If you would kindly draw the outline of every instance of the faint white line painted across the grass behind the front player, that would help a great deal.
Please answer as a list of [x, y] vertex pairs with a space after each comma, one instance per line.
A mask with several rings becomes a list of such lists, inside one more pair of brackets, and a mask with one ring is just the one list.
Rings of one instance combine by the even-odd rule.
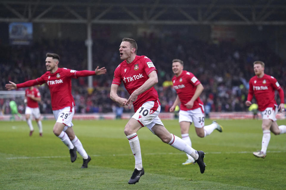
[[[267, 151], [267, 153], [285, 153], [286, 151]], [[242, 152], [205, 152], [206, 154], [251, 154], [252, 152], [249, 151], [242, 151]], [[161, 152], [161, 153], [145, 153], [143, 155], [178, 155], [178, 154], [185, 154], [184, 152]], [[113, 155], [91, 155], [93, 157], [104, 157], [104, 156], [130, 156], [130, 154], [113, 154]], [[42, 158], [66, 158], [69, 156], [37, 156], [37, 157], [11, 157], [6, 158], [7, 160], [13, 159], [42, 159]]]

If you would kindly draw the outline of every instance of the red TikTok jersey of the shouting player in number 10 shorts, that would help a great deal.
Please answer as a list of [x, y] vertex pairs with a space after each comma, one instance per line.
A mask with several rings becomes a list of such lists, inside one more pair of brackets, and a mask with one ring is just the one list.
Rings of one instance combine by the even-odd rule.
[[[133, 91], [144, 84], [149, 78], [148, 75], [150, 72], [154, 70], [157, 71], [148, 57], [136, 55], [131, 63], [128, 64], [126, 60], [124, 60], [119, 64], [114, 71], [112, 84], [121, 85], [121, 81], [123, 81], [126, 90], [131, 95]], [[159, 101], [159, 98], [155, 88], [151, 87], [142, 94], [139, 94], [137, 100], [133, 102], [134, 111], [136, 112], [145, 102], [153, 100]]]

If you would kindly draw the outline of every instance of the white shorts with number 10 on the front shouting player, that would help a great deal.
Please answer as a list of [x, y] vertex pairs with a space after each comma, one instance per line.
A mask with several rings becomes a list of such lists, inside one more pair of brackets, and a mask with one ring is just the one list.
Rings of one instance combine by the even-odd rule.
[[161, 106], [157, 100], [145, 102], [132, 116], [143, 127], [146, 126], [153, 134], [152, 127], [155, 124], [164, 126], [161, 119], [158, 117], [161, 110]]

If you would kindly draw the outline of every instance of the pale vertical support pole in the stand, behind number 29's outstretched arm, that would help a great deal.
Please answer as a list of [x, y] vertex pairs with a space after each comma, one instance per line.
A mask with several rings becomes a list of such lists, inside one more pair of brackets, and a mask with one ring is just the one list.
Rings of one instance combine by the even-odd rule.
[[[87, 70], [92, 70], [92, 38], [91, 38], [91, 14], [90, 7], [87, 7]], [[88, 88], [92, 89], [92, 76], [88, 77]]]

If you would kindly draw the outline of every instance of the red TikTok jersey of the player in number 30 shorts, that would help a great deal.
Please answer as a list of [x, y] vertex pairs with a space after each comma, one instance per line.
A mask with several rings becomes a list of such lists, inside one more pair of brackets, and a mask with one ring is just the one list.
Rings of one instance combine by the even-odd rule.
[[203, 106], [203, 102], [200, 100], [200, 97], [195, 100], [194, 105], [191, 109], [188, 109], [185, 106], [185, 104], [188, 103], [194, 96], [195, 91], [197, 89], [196, 86], [200, 84], [200, 81], [195, 77], [194, 74], [183, 70], [180, 76], [176, 77], [175, 75], [172, 78], [172, 82], [173, 87], [176, 90], [181, 101], [181, 110], [194, 110]]

